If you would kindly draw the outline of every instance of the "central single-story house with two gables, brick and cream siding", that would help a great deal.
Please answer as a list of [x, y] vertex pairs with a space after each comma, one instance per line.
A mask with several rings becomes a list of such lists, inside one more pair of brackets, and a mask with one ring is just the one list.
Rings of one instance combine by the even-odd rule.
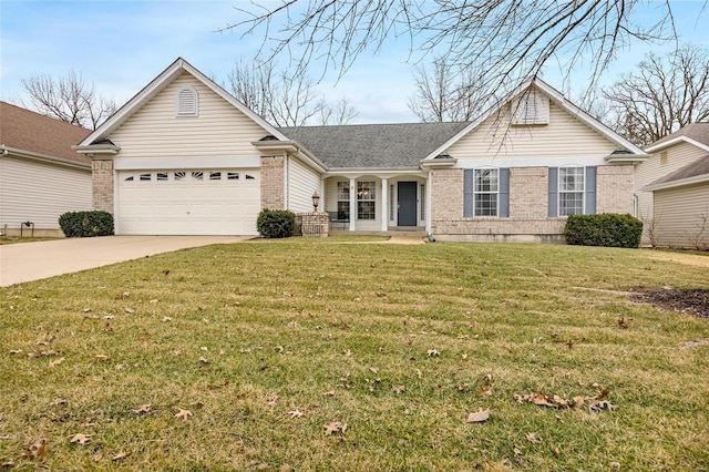
[[[508, 123], [512, 125], [508, 125]], [[631, 213], [647, 155], [546, 83], [472, 123], [276, 129], [183, 59], [79, 146], [117, 234], [256, 234], [263, 208], [346, 230], [563, 240], [566, 216]]]

